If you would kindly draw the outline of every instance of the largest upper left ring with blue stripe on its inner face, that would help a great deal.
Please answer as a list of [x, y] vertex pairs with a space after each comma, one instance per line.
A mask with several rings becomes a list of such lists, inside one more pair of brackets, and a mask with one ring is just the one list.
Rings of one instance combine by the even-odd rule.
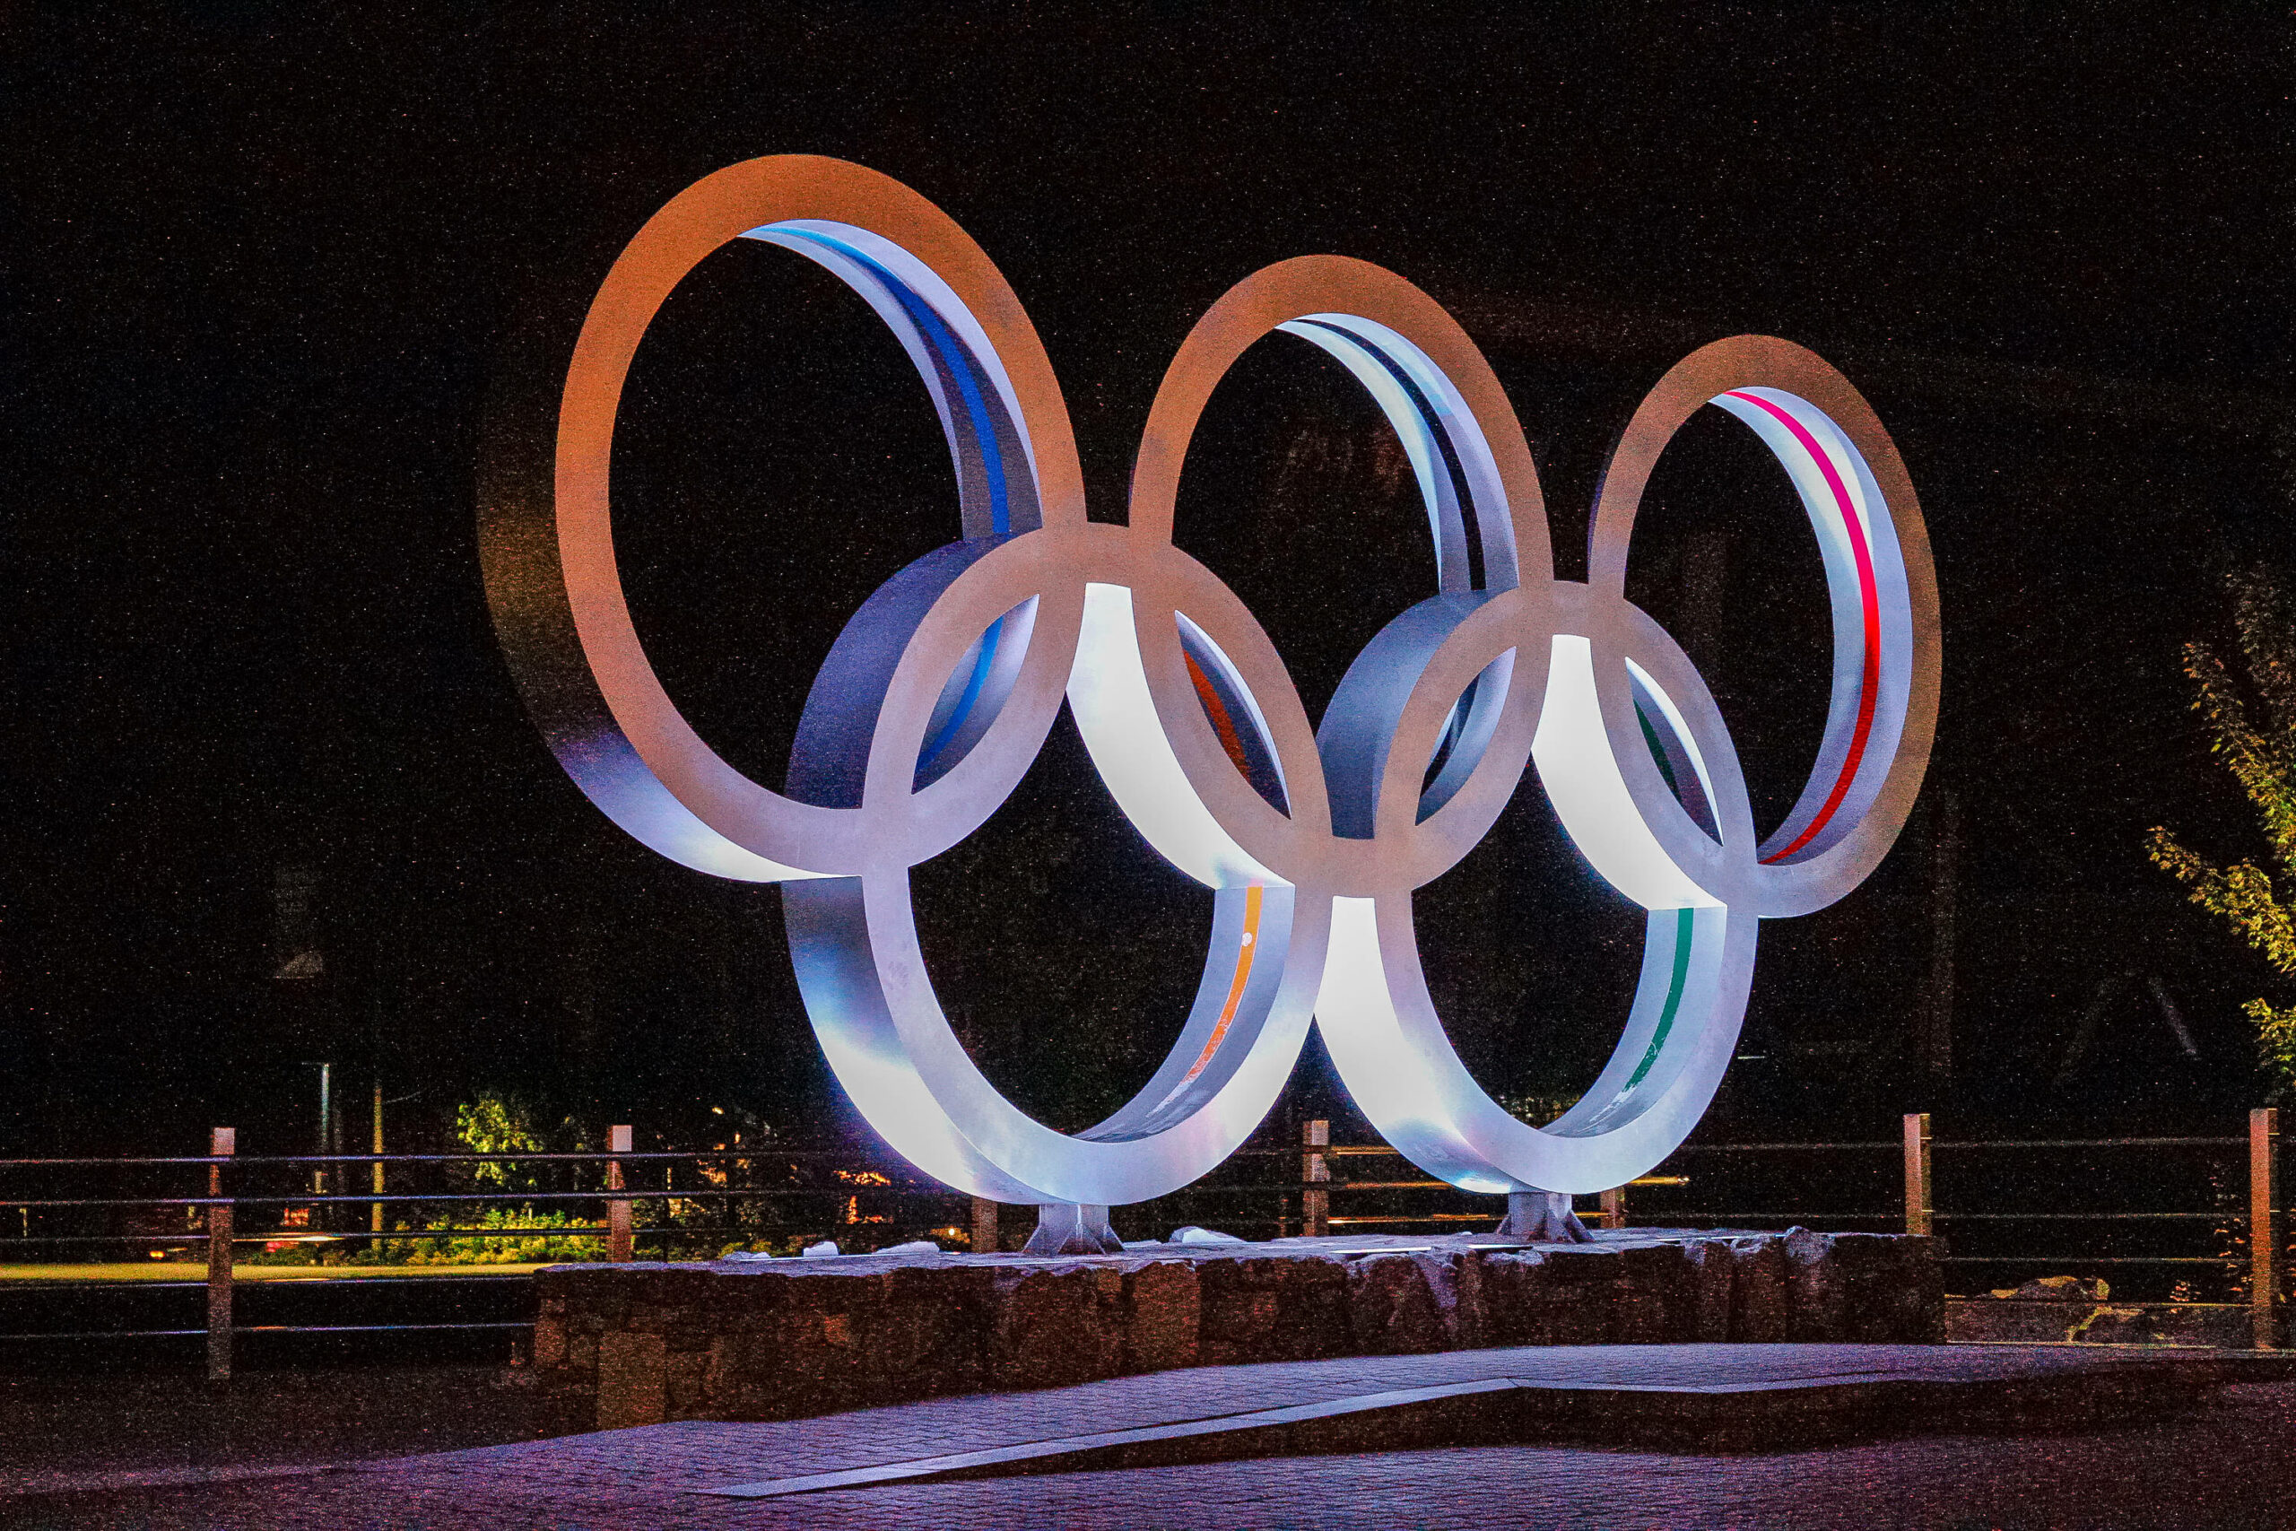
[[[680, 716], [638, 643], [615, 569], [608, 468], [638, 340], [670, 289], [730, 239], [781, 243], [852, 285], [909, 349], [957, 457], [964, 533], [1084, 526], [1061, 388], [987, 255], [907, 186], [843, 161], [781, 156], [709, 174], [654, 213], [613, 262], [558, 393], [546, 494], [533, 471], [482, 494], [487, 597], [521, 691], [567, 774], [615, 824], [689, 868], [748, 881], [923, 861], [971, 833], [1026, 771], [1058, 714], [1063, 643], [1008, 677], [990, 730], [916, 810], [861, 815], [799, 801], [726, 764]], [[1022, 746], [1026, 741], [1026, 746]], [[992, 767], [1001, 767], [994, 771]]]

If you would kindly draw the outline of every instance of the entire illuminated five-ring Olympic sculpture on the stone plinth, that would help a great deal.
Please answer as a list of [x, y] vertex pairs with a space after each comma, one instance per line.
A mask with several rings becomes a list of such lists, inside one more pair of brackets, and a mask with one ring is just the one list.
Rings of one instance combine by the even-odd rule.
[[[932, 393], [962, 505], [962, 535], [836, 638], [783, 792], [728, 767], [664, 693], [611, 530], [638, 340], [730, 239], [794, 250], [875, 308]], [[1366, 645], [1320, 725], [1242, 601], [1173, 546], [1205, 399], [1272, 331], [1334, 356], [1380, 404], [1435, 542], [1437, 592]], [[1626, 1184], [1722, 1081], [1756, 920], [1855, 888], [1929, 762], [1938, 592], [1913, 484], [1857, 390], [1784, 340], [1722, 340], [1658, 381], [1603, 475], [1587, 583], [1554, 578], [1531, 452], [1481, 351], [1357, 259], [1267, 266], [1203, 314], [1155, 397], [1125, 526], [1086, 521], [1058, 383], [987, 255], [859, 165], [771, 156], [696, 181], [613, 262], [560, 363], [553, 450], [510, 450], [482, 480], [489, 601], [528, 707], [625, 831], [703, 872], [788, 884], [797, 976], [838, 1081], [900, 1155], [974, 1196], [1097, 1212], [1104, 1230], [1109, 1205], [1173, 1191], [1242, 1143], [1311, 1019], [1364, 1113], [1430, 1175], [1550, 1205]], [[1706, 404], [1784, 466], [1832, 601], [1823, 746], [1768, 838], [1713, 695], [1626, 599], [1642, 489]], [[1125, 815], [1215, 907], [1180, 1040], [1075, 1136], [1024, 1116], [964, 1054], [909, 904], [909, 868], [994, 813], [1063, 702]], [[1412, 927], [1412, 891], [1481, 840], [1525, 764], [1587, 861], [1649, 911], [1616, 1051], [1548, 1127], [1460, 1065]]]

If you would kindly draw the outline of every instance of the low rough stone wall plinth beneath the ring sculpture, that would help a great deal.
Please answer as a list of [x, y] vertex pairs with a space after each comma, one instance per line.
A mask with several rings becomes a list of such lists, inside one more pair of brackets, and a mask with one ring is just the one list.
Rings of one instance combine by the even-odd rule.
[[1176, 1366], [1481, 1345], [1945, 1338], [1936, 1244], [1906, 1235], [1334, 1244], [569, 1265], [537, 1276], [533, 1366], [569, 1419], [595, 1400], [595, 1425], [611, 1430], [797, 1419]]

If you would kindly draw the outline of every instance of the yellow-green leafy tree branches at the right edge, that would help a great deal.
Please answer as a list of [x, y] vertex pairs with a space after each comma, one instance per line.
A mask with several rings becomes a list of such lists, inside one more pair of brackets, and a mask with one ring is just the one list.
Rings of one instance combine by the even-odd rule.
[[[2280, 875], [2296, 877], [2296, 622], [2271, 574], [2250, 569], [2227, 583], [2239, 668], [2220, 647], [2188, 643], [2183, 673], [2193, 677], [2193, 709], [2209, 730], [2209, 751], [2255, 806]], [[2296, 978], [2296, 900], [2273, 888], [2271, 870], [2255, 858], [2216, 865], [2163, 826], [2151, 831], [2147, 849], [2195, 904], [2232, 925], [2282, 978]], [[2296, 1088], [2296, 1005], [2252, 998], [2243, 1010], [2257, 1026], [2273, 1095], [2289, 1093]]]

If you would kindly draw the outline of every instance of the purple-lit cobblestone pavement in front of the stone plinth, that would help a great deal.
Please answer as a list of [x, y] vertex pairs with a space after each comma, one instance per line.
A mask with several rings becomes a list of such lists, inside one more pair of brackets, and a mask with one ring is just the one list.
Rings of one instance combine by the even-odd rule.
[[[1699, 1357], [1607, 1359], [1612, 1382]], [[1876, 1370], [1880, 1347], [1729, 1347], [1704, 1375]], [[1747, 1354], [1754, 1352], [1754, 1354]], [[1867, 1354], [1855, 1354], [1867, 1352]], [[2027, 1352], [2030, 1354], [2030, 1352]], [[1536, 1357], [1534, 1357], [1536, 1359]], [[1995, 1368], [2002, 1352], [1938, 1363]], [[1903, 1357], [1899, 1361], [1903, 1366]], [[1295, 1368], [1194, 1373], [1196, 1416], [1332, 1398], [1366, 1386], [1522, 1375], [1527, 1352], [1451, 1352]], [[806, 1526], [2000, 1526], [2209, 1531], [2296, 1529], [2296, 1382], [2225, 1389], [2197, 1416], [2039, 1437], [1929, 1437], [1761, 1455], [1557, 1446], [1396, 1451], [1199, 1467], [838, 1490], [735, 1501], [698, 1487], [820, 1471], [955, 1446], [1042, 1439], [1176, 1419], [1178, 1375], [1084, 1389], [948, 1398], [776, 1425], [677, 1423], [365, 1469], [181, 1490], [0, 1499], [9, 1531], [634, 1531]], [[1164, 1382], [1162, 1396], [1155, 1386]]]

